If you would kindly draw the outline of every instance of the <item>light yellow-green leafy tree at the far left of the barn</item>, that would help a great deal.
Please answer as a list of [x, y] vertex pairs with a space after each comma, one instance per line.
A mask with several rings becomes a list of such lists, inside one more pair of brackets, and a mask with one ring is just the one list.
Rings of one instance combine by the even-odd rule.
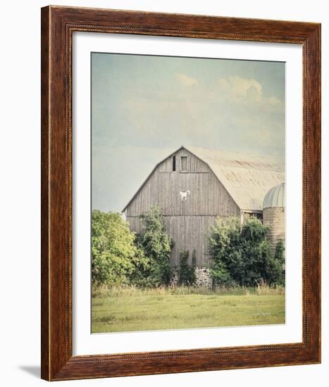
[[120, 214], [92, 211], [92, 282], [123, 285], [138, 283], [149, 269], [149, 259], [135, 243]]

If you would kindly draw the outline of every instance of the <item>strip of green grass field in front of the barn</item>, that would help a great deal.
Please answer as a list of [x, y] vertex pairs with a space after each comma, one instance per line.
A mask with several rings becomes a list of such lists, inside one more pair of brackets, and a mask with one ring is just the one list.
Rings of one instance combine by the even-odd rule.
[[92, 332], [285, 323], [284, 288], [98, 288]]

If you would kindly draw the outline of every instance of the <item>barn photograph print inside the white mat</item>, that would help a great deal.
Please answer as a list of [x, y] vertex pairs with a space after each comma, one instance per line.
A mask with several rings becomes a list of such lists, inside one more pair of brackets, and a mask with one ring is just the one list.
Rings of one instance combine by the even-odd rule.
[[92, 333], [285, 324], [285, 63], [91, 63]]

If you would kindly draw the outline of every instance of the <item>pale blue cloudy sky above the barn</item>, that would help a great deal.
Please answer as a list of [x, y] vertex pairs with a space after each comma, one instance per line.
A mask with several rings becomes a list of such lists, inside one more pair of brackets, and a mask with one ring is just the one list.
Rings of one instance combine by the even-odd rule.
[[285, 63], [92, 53], [92, 208], [181, 145], [284, 158]]

